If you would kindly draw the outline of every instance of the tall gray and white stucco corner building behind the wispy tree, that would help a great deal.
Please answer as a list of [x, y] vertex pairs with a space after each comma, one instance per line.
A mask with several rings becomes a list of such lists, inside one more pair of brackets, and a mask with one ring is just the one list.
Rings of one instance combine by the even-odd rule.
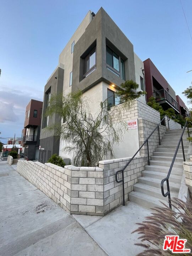
[[[70, 158], [62, 152], [65, 143], [54, 130], [46, 129], [51, 123], [62, 122], [57, 116], [45, 116], [51, 94], [82, 90], [95, 114], [106, 98], [110, 97], [111, 106], [119, 103], [115, 91], [125, 80], [136, 81], [138, 91], [145, 90], [142, 60], [103, 8], [96, 15], [89, 11], [59, 55], [59, 64], [45, 85], [40, 132], [40, 146], [44, 150], [40, 159], [46, 162], [55, 153]], [[139, 100], [146, 103], [146, 96]]]

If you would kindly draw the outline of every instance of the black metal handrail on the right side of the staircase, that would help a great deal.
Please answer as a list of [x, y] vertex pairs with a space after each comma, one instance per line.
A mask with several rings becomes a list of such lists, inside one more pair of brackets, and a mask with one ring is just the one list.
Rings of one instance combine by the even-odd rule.
[[[188, 116], [187, 118], [190, 116], [190, 112], [188, 113]], [[166, 178], [164, 178], [162, 181], [161, 181], [161, 193], [164, 197], [167, 197], [168, 196], [168, 201], [169, 201], [169, 208], [172, 209], [171, 207], [171, 195], [170, 195], [170, 188], [169, 188], [169, 177], [170, 177], [170, 174], [171, 174], [171, 170], [172, 170], [172, 167], [174, 165], [174, 162], [175, 162], [175, 158], [176, 158], [176, 155], [177, 155], [177, 152], [179, 150], [179, 146], [180, 146], [180, 143], [181, 143], [181, 146], [182, 146], [182, 153], [183, 153], [183, 161], [185, 162], [185, 152], [184, 152], [184, 147], [183, 147], [183, 133], [185, 132], [185, 128], [187, 126], [187, 132], [188, 132], [188, 137], [190, 137], [190, 132], [189, 132], [189, 127], [188, 127], [188, 121], [186, 120], [185, 122], [185, 126], [183, 127], [183, 131], [181, 133], [181, 137], [179, 139], [179, 142], [177, 144], [177, 148], [175, 150], [175, 154], [174, 154], [174, 157], [172, 159], [172, 162], [171, 162], [171, 165], [170, 165], [170, 168], [169, 168], [169, 171], [168, 171], [168, 175]], [[164, 193], [164, 182], [166, 181], [167, 183], [167, 192]]]

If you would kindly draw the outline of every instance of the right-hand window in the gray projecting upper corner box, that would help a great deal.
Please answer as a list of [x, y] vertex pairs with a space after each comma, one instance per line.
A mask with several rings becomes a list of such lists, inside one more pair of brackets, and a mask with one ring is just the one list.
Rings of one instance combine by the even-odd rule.
[[[121, 70], [119, 63], [121, 62]], [[113, 50], [106, 46], [106, 63], [107, 69], [112, 71], [115, 75], [121, 76], [125, 80], [125, 62]]]

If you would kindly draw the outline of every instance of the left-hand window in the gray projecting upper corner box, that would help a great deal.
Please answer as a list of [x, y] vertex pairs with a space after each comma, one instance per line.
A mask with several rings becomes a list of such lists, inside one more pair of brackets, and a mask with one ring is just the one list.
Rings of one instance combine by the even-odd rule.
[[83, 60], [83, 77], [85, 78], [96, 69], [96, 48]]

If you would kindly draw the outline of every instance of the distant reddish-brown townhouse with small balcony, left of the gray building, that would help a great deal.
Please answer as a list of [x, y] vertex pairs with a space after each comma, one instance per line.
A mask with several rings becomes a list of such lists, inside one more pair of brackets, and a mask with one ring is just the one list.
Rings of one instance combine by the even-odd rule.
[[31, 100], [25, 113], [24, 129], [22, 130], [22, 153], [28, 160], [39, 158], [39, 135], [43, 102]]

